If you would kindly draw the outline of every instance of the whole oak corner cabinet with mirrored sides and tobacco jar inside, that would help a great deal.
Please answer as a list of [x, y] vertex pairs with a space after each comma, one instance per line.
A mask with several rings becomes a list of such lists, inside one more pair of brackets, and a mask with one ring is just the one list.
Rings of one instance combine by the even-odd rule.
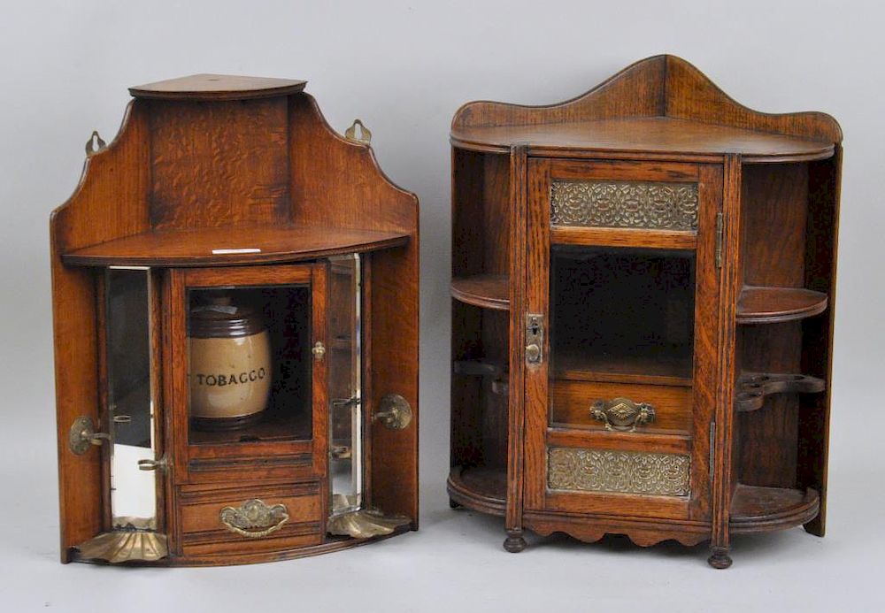
[[50, 222], [62, 562], [418, 528], [418, 199], [303, 90], [151, 83], [90, 137]]

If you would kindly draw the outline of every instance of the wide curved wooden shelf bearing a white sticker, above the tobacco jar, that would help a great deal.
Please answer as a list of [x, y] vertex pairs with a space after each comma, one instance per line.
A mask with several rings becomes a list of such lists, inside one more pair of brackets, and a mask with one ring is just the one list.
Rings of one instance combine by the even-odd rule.
[[404, 245], [396, 232], [310, 226], [212, 227], [146, 232], [62, 254], [84, 266], [205, 266], [293, 262]]

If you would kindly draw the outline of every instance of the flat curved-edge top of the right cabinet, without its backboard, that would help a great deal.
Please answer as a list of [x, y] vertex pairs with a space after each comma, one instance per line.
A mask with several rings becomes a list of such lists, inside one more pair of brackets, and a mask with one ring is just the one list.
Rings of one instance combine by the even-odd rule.
[[746, 163], [825, 159], [834, 150], [833, 142], [670, 117], [454, 126], [451, 142], [463, 149], [502, 152], [514, 142], [526, 142], [528, 155], [549, 157], [657, 153], [704, 159], [740, 153]]

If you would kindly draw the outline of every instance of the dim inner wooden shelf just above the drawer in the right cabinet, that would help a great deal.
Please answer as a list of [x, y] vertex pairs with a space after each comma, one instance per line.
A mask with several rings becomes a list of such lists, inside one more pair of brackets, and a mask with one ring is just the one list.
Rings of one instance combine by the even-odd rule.
[[691, 386], [689, 349], [604, 348], [591, 344], [580, 350], [554, 352], [551, 364], [556, 379]]

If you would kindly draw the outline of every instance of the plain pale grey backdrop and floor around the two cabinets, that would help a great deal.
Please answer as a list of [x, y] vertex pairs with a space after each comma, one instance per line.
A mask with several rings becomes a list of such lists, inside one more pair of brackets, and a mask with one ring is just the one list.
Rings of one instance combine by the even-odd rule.
[[[658, 610], [881, 606], [879, 249], [885, 223], [883, 11], [876, 2], [31, 2], [0, 11], [0, 604], [5, 610]], [[828, 535], [705, 548], [532, 540], [446, 505], [450, 149], [461, 103], [554, 103], [669, 52], [762, 111], [827, 111], [845, 134]], [[48, 219], [127, 86], [189, 73], [309, 80], [330, 123], [359, 117], [381, 167], [421, 201], [422, 530], [371, 548], [232, 569], [58, 564]], [[873, 594], [875, 592], [875, 594]], [[546, 603], [542, 605], [541, 603]], [[10, 608], [12, 605], [12, 608]]]

